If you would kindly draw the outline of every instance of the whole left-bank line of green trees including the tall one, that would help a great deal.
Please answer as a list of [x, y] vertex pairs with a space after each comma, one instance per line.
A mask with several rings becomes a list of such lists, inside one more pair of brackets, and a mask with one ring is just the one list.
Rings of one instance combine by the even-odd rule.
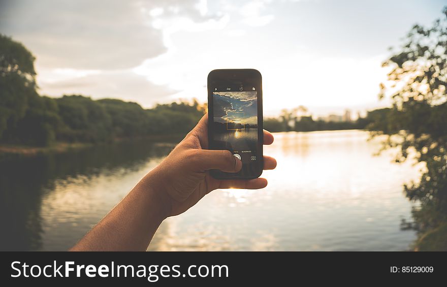
[[121, 100], [82, 95], [42, 97], [36, 90], [35, 57], [0, 34], [0, 142], [49, 146], [56, 141], [100, 143], [117, 138], [180, 135], [203, 116], [197, 101], [143, 109]]

